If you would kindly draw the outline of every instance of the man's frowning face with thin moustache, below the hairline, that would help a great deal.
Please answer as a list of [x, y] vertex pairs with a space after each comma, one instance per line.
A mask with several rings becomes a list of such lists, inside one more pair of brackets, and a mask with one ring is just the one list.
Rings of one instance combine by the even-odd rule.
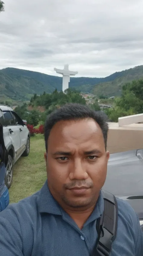
[[75, 208], [95, 204], [106, 179], [109, 152], [93, 119], [56, 123], [45, 159], [48, 186], [60, 205]]

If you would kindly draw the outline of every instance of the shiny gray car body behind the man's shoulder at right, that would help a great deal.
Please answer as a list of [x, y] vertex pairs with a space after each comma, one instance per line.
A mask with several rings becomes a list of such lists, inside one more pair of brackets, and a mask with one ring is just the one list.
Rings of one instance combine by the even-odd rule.
[[111, 154], [103, 189], [126, 200], [143, 219], [143, 149]]

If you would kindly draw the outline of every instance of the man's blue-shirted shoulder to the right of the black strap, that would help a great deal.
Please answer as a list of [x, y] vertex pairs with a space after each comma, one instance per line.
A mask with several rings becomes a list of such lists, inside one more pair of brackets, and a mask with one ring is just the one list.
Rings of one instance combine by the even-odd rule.
[[131, 205], [116, 198], [118, 205], [118, 225], [116, 239], [112, 245], [112, 254], [117, 255], [143, 255], [143, 237], [138, 216]]

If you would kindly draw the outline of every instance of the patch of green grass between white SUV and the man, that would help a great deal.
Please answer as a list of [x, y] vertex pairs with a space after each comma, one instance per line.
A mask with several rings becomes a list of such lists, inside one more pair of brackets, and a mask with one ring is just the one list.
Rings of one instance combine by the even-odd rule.
[[13, 182], [9, 189], [10, 203], [17, 203], [43, 186], [46, 181], [44, 152], [43, 135], [31, 137], [29, 156], [21, 157], [14, 165]]

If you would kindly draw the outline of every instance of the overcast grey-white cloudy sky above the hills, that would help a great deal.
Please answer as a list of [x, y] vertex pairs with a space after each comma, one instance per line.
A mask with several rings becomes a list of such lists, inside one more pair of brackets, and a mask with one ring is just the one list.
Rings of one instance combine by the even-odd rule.
[[3, 0], [0, 69], [106, 77], [143, 64], [142, 0]]

